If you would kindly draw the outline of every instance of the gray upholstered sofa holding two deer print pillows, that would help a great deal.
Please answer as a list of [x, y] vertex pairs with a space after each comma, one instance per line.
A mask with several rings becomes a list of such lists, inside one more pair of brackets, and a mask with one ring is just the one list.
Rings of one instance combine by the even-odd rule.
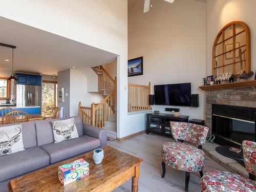
[[22, 123], [25, 151], [0, 156], [0, 191], [8, 191], [7, 184], [15, 177], [106, 146], [105, 129], [74, 119], [79, 137], [59, 143], [54, 143], [52, 119]]

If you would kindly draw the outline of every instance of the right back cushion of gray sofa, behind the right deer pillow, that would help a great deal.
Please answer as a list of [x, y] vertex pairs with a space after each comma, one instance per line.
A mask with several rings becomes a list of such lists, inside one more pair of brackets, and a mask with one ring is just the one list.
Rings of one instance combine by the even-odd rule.
[[[52, 124], [51, 121], [55, 120], [64, 120], [68, 118], [59, 118], [59, 119], [47, 119], [42, 121], [35, 121], [36, 129], [36, 139], [37, 146], [49, 144], [54, 142]], [[82, 120], [80, 117], [74, 117], [76, 123], [76, 129], [78, 136], [83, 135]]]

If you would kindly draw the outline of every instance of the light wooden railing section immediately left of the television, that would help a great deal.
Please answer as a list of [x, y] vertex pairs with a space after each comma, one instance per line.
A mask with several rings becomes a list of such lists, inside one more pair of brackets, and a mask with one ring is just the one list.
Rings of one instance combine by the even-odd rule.
[[151, 82], [148, 86], [128, 83], [128, 112], [151, 110], [150, 93]]

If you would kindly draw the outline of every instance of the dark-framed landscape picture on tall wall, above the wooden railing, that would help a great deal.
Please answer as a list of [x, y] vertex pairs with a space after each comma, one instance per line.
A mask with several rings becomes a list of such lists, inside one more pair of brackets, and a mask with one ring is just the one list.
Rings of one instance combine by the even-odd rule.
[[128, 60], [128, 77], [143, 75], [143, 57]]

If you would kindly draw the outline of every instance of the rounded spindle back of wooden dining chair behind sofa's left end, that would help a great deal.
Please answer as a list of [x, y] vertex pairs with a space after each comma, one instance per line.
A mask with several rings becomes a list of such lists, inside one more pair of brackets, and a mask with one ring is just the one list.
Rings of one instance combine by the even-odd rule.
[[2, 124], [28, 122], [29, 115], [24, 111], [12, 111], [4, 115]]

